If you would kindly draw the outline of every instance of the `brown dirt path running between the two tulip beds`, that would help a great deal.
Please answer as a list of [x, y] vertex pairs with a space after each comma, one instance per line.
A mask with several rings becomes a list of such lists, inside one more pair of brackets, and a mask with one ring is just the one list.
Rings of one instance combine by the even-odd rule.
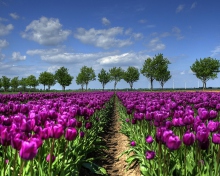
[[[111, 118], [110, 123], [105, 129], [103, 134], [103, 141], [107, 150], [102, 151], [102, 154], [97, 151], [97, 156], [104, 157], [102, 160], [97, 161], [96, 163], [104, 167], [107, 170], [108, 176], [140, 176], [140, 170], [138, 165], [132, 166], [129, 170], [126, 171], [126, 154], [119, 156], [128, 149], [129, 141], [128, 138], [120, 133], [120, 120], [119, 113], [116, 109], [116, 103], [114, 105], [114, 112]], [[118, 159], [119, 158], [119, 159]], [[95, 176], [94, 174], [83, 171], [80, 176]]]

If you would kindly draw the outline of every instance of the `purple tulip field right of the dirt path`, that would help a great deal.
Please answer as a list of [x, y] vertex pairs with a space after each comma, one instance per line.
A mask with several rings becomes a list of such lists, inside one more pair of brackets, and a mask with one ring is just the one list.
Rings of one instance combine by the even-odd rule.
[[129, 165], [143, 175], [220, 175], [220, 93], [117, 92], [130, 139]]

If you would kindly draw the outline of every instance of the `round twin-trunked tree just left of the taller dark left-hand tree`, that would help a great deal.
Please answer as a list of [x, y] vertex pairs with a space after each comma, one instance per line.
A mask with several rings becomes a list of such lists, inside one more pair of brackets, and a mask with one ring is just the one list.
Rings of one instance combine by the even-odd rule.
[[53, 86], [56, 84], [54, 75], [50, 72], [42, 72], [39, 75], [38, 81], [40, 84], [43, 84], [44, 90], [45, 90], [45, 85], [48, 86], [48, 90], [50, 90], [50, 86]]

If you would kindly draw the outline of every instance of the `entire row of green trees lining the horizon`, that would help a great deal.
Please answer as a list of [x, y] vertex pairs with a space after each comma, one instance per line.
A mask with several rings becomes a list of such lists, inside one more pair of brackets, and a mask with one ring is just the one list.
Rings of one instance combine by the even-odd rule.
[[[115, 90], [117, 83], [123, 79], [132, 89], [133, 84], [139, 80], [141, 73], [150, 80], [151, 90], [153, 90], [154, 80], [158, 81], [163, 89], [164, 84], [171, 78], [170, 71], [168, 70], [169, 64], [170, 61], [164, 58], [163, 54], [158, 54], [153, 58], [147, 58], [140, 72], [136, 67], [132, 66], [129, 66], [127, 70], [123, 70], [121, 67], [113, 67], [109, 69], [109, 71], [101, 69], [100, 73], [98, 73], [98, 81], [101, 83], [103, 90], [107, 83], [113, 81]], [[196, 59], [195, 63], [193, 63], [190, 68], [196, 77], [203, 82], [203, 88], [206, 88], [206, 82], [209, 79], [217, 78], [219, 67], [219, 60], [208, 57], [200, 60]], [[46, 71], [40, 73], [38, 79], [34, 75], [30, 75], [27, 78], [21, 78], [21, 80], [18, 79], [18, 76], [12, 79], [2, 76], [2, 78], [0, 78], [0, 88], [3, 87], [4, 91], [7, 91], [11, 87], [13, 91], [16, 91], [17, 88], [21, 86], [25, 91], [27, 86], [35, 89], [36, 86], [42, 84], [44, 90], [45, 86], [48, 86], [48, 90], [50, 90], [51, 86], [59, 83], [62, 86], [62, 90], [65, 91], [66, 86], [69, 86], [73, 79], [74, 77], [68, 73], [68, 69], [61, 67], [55, 74]], [[83, 66], [76, 76], [76, 84], [80, 85], [82, 90], [84, 87], [87, 90], [89, 82], [94, 80], [96, 80], [96, 75], [92, 67]]]

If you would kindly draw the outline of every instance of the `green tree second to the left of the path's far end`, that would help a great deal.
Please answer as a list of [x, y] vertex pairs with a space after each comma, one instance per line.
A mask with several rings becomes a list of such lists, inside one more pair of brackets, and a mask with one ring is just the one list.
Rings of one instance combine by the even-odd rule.
[[83, 86], [86, 85], [86, 90], [87, 90], [89, 82], [94, 81], [94, 80], [96, 80], [96, 75], [95, 75], [95, 71], [93, 70], [93, 68], [83, 66], [80, 69], [80, 73], [77, 76], [76, 83], [78, 85], [80, 84], [82, 86], [82, 89], [83, 89]]

